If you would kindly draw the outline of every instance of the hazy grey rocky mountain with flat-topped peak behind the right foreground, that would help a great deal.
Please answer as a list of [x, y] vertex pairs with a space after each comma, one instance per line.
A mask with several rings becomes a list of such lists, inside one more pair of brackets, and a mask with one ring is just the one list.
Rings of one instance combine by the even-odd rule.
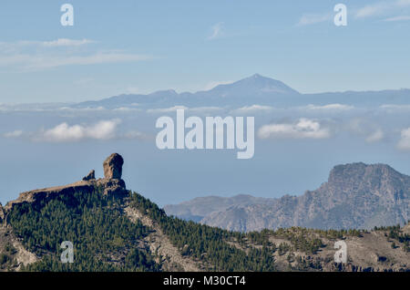
[[410, 219], [410, 177], [384, 164], [338, 165], [319, 189], [301, 196], [210, 196], [167, 205], [165, 211], [241, 232], [290, 226], [369, 229]]

